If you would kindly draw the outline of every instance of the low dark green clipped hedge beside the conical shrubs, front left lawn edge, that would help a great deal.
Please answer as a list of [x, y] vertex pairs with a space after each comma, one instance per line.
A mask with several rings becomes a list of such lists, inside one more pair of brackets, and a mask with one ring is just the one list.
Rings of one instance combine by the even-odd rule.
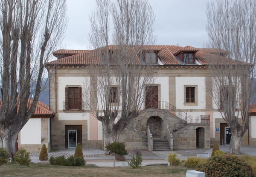
[[64, 156], [50, 157], [50, 164], [53, 166], [84, 166], [84, 157], [70, 156], [67, 159]]

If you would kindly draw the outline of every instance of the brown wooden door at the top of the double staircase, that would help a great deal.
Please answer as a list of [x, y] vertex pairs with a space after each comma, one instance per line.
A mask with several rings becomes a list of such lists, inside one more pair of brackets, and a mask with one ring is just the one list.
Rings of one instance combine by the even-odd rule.
[[145, 108], [158, 108], [158, 86], [146, 86]]

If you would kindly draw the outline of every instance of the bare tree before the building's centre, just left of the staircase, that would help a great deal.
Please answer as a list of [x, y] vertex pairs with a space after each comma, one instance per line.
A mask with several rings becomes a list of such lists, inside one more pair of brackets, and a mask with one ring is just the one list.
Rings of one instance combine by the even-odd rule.
[[[145, 84], [154, 80], [142, 59], [144, 51], [152, 56], [155, 52], [144, 46], [154, 43], [154, 13], [147, 0], [97, 0], [96, 3], [97, 11], [90, 17], [90, 42], [99, 61], [90, 67], [90, 82], [84, 86], [90, 87], [90, 99], [85, 96], [84, 100], [102, 122], [109, 142], [115, 142], [138, 116], [143, 108]], [[111, 41], [114, 45], [109, 45]]]

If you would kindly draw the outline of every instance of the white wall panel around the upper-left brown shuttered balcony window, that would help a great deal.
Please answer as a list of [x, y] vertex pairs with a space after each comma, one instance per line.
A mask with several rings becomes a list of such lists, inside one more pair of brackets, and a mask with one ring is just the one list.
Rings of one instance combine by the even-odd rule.
[[[81, 86], [82, 95], [90, 95], [89, 90], [83, 88], [84, 82], [90, 82], [90, 77], [58, 77], [58, 109], [63, 110], [63, 102], [65, 102], [66, 86]], [[89, 100], [89, 99], [88, 99]]]

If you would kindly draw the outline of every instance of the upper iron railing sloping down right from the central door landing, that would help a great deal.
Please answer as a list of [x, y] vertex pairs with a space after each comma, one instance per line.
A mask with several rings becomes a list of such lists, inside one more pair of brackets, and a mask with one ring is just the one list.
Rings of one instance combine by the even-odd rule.
[[167, 103], [165, 100], [158, 102], [158, 109], [169, 111], [171, 114], [179, 117], [181, 120], [186, 119], [187, 113]]

